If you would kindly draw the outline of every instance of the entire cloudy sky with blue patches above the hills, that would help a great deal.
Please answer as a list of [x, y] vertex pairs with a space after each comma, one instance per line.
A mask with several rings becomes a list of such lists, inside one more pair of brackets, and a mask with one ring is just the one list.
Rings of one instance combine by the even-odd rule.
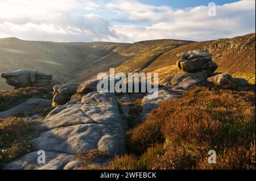
[[[213, 7], [209, 3], [214, 2]], [[212, 14], [213, 15], [213, 14]], [[1, 0], [0, 38], [135, 42], [255, 32], [255, 0]]]

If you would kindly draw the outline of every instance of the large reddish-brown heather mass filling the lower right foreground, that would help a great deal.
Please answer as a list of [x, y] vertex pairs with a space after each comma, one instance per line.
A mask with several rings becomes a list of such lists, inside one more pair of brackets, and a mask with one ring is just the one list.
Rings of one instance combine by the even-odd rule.
[[[164, 101], [127, 136], [127, 148], [136, 155], [164, 143], [152, 169], [250, 169], [255, 162], [255, 146], [250, 146], [255, 142], [255, 92], [193, 87], [178, 100]], [[219, 163], [206, 166], [212, 149]]]

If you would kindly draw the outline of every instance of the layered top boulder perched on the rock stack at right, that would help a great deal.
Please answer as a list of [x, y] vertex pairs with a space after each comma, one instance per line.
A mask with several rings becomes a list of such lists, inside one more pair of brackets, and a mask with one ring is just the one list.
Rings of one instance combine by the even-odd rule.
[[208, 73], [213, 73], [218, 68], [218, 65], [212, 61], [212, 55], [205, 50], [192, 50], [177, 54], [177, 57], [181, 57], [176, 62], [177, 67], [185, 72], [207, 70]]

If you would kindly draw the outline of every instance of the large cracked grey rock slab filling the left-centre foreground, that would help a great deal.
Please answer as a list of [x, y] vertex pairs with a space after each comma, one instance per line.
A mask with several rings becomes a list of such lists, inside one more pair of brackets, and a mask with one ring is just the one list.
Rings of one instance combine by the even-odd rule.
[[123, 121], [113, 93], [90, 92], [81, 102], [57, 106], [38, 130], [39, 137], [31, 143], [35, 150], [49, 154], [47, 165], [36, 164], [33, 152], [9, 163], [5, 169], [76, 169], [79, 161], [75, 154], [79, 151], [97, 149], [106, 153], [101, 162], [125, 153]]

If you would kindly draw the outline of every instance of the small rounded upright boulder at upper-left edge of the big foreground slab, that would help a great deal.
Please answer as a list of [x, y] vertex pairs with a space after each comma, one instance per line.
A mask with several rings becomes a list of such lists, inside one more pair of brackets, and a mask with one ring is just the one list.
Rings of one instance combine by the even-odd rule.
[[65, 103], [69, 102], [71, 96], [76, 92], [78, 87], [79, 85], [76, 83], [67, 83], [61, 86], [54, 86], [52, 107], [64, 105]]

